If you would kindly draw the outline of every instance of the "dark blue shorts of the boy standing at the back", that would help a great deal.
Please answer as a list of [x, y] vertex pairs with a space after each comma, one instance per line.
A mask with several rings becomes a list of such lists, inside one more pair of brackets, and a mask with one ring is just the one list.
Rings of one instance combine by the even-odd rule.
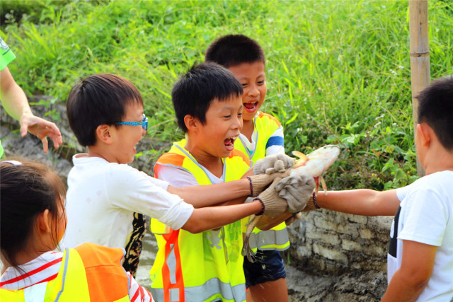
[[255, 262], [243, 258], [243, 272], [246, 275], [246, 287], [286, 278], [285, 264], [278, 250], [258, 250]]

